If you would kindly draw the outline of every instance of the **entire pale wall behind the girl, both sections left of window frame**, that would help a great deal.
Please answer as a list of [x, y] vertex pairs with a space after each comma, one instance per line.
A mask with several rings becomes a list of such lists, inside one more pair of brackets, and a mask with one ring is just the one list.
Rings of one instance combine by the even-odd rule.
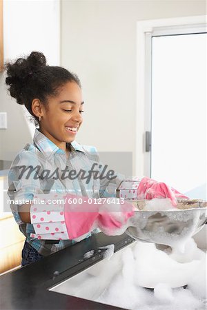
[[[206, 14], [204, 0], [62, 0], [60, 25], [59, 0], [4, 0], [5, 61], [40, 50], [48, 63], [58, 65], [61, 48], [61, 65], [79, 74], [86, 101], [77, 141], [135, 156], [136, 23], [199, 14]], [[32, 141], [22, 111], [6, 94], [0, 73], [0, 112], [8, 112], [8, 129], [0, 130], [0, 159], [12, 159], [10, 152]]]

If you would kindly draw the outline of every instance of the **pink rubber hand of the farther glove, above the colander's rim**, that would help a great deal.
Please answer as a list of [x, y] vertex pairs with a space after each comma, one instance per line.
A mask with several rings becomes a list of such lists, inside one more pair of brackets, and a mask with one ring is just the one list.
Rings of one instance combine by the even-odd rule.
[[176, 189], [169, 187], [163, 182], [157, 182], [152, 178], [144, 177], [137, 188], [138, 199], [152, 199], [152, 198], [170, 198], [172, 205], [177, 206], [177, 198], [186, 198], [187, 196], [181, 194]]

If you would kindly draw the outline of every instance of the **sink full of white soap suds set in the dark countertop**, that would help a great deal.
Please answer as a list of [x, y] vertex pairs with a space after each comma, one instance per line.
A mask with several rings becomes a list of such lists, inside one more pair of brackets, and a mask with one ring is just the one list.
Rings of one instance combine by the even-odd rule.
[[57, 291], [132, 310], [206, 309], [206, 254], [192, 238], [184, 254], [167, 254], [152, 243], [136, 241]]

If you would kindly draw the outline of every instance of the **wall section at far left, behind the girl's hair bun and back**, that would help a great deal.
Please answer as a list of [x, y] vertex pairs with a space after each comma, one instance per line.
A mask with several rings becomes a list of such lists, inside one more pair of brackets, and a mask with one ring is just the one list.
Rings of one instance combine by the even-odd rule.
[[[50, 65], [60, 62], [59, 0], [3, 1], [4, 61], [43, 52]], [[0, 159], [12, 160], [32, 142], [34, 126], [26, 121], [23, 107], [6, 92], [5, 74], [0, 74], [0, 112], [8, 113], [8, 129], [0, 129]]]

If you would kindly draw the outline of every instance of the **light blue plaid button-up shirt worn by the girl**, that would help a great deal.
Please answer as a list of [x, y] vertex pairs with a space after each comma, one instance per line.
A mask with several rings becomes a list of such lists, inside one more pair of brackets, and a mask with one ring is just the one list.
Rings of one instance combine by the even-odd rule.
[[[21, 200], [32, 200], [35, 194], [48, 194], [49, 192], [57, 193], [70, 193], [78, 196], [88, 196], [90, 198], [110, 197], [116, 196], [116, 189], [124, 180], [124, 176], [117, 175], [114, 180], [97, 180], [90, 179], [87, 183], [86, 180], [81, 178], [35, 178], [37, 176], [37, 170], [32, 171], [29, 178], [26, 178], [26, 174], [19, 178], [21, 173], [21, 166], [26, 167], [39, 167], [38, 174], [48, 171], [54, 172], [55, 169], [64, 169], [66, 165], [70, 169], [75, 169], [77, 172], [80, 169], [88, 171], [92, 167], [92, 163], [99, 163], [99, 155], [97, 149], [88, 145], [80, 145], [76, 141], [72, 143], [66, 143], [67, 147], [70, 147], [70, 157], [67, 158], [66, 152], [60, 149], [50, 141], [44, 134], [42, 134], [38, 128], [34, 132], [34, 138], [32, 144], [27, 144], [14, 158], [10, 171], [8, 174], [8, 196], [10, 200], [16, 200], [18, 203], [10, 203], [14, 219], [19, 225], [19, 229], [26, 236], [27, 242], [37, 249], [39, 254], [48, 256], [56, 251], [68, 247], [76, 243], [76, 240], [39, 240], [36, 238], [30, 238], [30, 233], [34, 233], [33, 225], [30, 223], [23, 223], [19, 216], [19, 207]], [[99, 229], [95, 229], [88, 233], [85, 238], [88, 238], [92, 234], [99, 232]]]

